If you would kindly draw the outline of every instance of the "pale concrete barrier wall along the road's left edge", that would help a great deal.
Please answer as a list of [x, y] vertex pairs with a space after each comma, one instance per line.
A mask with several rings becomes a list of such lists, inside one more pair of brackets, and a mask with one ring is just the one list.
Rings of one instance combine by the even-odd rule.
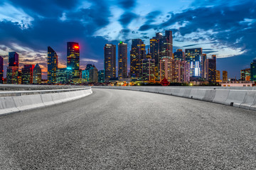
[[[30, 92], [31, 91], [28, 91], [28, 93]], [[38, 91], [38, 93], [39, 92], [40, 91]], [[52, 91], [48, 94], [0, 97], [0, 115], [52, 106], [58, 103], [73, 101], [90, 94], [92, 94], [92, 89], [89, 87], [79, 90], [65, 89], [64, 92], [56, 91], [55, 93]]]

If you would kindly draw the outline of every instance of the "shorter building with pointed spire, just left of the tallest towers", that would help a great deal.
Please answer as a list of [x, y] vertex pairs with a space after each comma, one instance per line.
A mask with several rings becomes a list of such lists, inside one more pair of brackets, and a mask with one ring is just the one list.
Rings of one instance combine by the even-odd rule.
[[151, 55], [146, 55], [146, 58], [142, 60], [142, 80], [154, 82], [155, 81], [155, 61], [151, 59]]

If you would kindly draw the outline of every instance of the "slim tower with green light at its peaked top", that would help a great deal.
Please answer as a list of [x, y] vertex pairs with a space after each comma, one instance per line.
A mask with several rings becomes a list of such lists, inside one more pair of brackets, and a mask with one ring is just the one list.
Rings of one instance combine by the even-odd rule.
[[118, 44], [118, 79], [127, 79], [127, 44]]

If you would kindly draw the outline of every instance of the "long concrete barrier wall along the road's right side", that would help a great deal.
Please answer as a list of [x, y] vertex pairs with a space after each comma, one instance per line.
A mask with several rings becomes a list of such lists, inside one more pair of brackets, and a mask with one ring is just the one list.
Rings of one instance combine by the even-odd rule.
[[184, 98], [193, 98], [201, 101], [246, 108], [256, 111], [255, 88], [221, 88], [221, 87], [169, 87], [169, 86], [92, 86], [95, 89], [122, 89], [145, 91], [156, 94], [166, 94]]

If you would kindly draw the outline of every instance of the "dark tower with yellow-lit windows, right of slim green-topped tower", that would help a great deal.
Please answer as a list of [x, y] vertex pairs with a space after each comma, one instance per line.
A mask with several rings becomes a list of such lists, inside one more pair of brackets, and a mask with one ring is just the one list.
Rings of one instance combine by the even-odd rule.
[[142, 79], [142, 60], [146, 58], [146, 49], [141, 39], [132, 40], [130, 51], [130, 77], [132, 81]]

